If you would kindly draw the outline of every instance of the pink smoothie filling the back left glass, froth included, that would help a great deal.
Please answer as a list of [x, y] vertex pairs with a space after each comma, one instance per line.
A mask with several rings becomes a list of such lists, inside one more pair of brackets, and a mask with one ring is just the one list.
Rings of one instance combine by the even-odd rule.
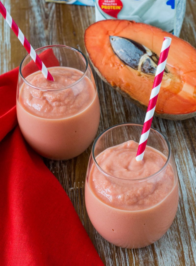
[[[16, 101], [17, 117], [24, 138], [44, 157], [65, 160], [78, 156], [94, 139], [100, 119], [95, 84], [88, 77], [71, 88], [82, 72], [74, 68], [48, 68], [54, 81], [40, 72], [26, 80]], [[58, 90], [57, 90], [58, 89]]]

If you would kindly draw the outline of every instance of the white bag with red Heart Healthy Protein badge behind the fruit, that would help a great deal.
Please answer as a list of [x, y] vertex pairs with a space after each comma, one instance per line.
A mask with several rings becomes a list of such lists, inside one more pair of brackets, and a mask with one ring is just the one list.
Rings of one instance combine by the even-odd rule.
[[179, 36], [186, 0], [95, 0], [96, 21], [135, 20]]

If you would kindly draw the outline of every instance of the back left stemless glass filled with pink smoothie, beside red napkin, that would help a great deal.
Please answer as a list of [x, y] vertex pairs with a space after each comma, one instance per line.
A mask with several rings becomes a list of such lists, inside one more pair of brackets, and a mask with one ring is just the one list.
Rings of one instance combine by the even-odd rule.
[[93, 141], [100, 119], [99, 98], [85, 55], [65, 45], [36, 50], [54, 81], [44, 78], [27, 55], [20, 64], [17, 118], [40, 155], [54, 160], [78, 156]]

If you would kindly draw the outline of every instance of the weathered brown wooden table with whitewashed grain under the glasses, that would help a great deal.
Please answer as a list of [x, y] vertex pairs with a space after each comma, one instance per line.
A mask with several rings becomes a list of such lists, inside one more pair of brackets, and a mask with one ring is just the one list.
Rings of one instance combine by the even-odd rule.
[[[65, 44], [85, 53], [84, 30], [95, 22], [94, 7], [45, 3], [44, 0], [3, 0], [33, 48]], [[187, 0], [186, 16], [180, 37], [196, 46], [196, 2]], [[18, 66], [25, 49], [0, 17], [0, 73]], [[182, 51], [186, 52], [186, 51]], [[106, 85], [92, 69], [97, 84], [101, 120], [97, 135], [122, 122], [143, 123], [145, 113]], [[84, 183], [92, 145], [68, 161], [44, 159], [70, 197], [87, 233], [104, 264], [109, 265], [187, 265], [196, 263], [196, 118], [182, 121], [154, 117], [152, 126], [167, 136], [179, 177], [180, 201], [176, 218], [168, 232], [146, 248], [127, 250], [104, 240], [88, 219], [84, 203]]]

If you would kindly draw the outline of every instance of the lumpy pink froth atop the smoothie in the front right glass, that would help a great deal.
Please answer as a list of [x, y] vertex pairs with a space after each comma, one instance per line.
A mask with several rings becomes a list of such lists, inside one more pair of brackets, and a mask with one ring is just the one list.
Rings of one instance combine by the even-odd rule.
[[[128, 141], [108, 148], [96, 157], [97, 164], [108, 174], [116, 177], [110, 181], [94, 166], [90, 187], [106, 204], [123, 210], [143, 210], [163, 200], [174, 186], [174, 174], [170, 165], [157, 177], [146, 182], [142, 179], [158, 172], [165, 164], [166, 157], [147, 146], [144, 160], [135, 160], [138, 143]], [[129, 187], [118, 179], [130, 180]], [[134, 182], [135, 179], [140, 181]]]

